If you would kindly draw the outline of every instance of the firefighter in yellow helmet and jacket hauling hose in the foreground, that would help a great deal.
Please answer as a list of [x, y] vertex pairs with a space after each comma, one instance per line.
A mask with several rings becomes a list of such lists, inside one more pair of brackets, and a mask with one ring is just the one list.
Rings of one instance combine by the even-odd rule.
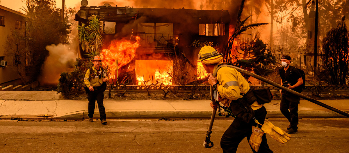
[[[250, 90], [250, 86], [240, 72], [235, 68], [221, 67], [217, 71], [216, 77], [212, 74], [216, 71], [217, 66], [220, 65], [222, 54], [218, 53], [216, 49], [211, 46], [204, 46], [199, 52], [199, 60], [202, 62], [203, 67], [207, 73], [211, 73], [208, 82], [217, 90], [220, 97], [220, 102], [226, 106], [231, 107], [231, 104], [237, 100], [241, 100], [243, 95]], [[217, 104], [211, 102], [212, 108], [217, 108]], [[254, 118], [259, 123], [264, 124], [265, 116], [267, 111], [265, 107], [259, 104], [257, 101], [252, 103], [251, 108], [254, 111]], [[247, 123], [248, 122], [248, 123]], [[251, 118], [249, 121], [244, 122], [242, 118], [234, 119], [233, 123], [224, 132], [221, 139], [221, 147], [224, 153], [236, 152], [239, 143], [247, 137], [247, 141], [250, 141], [252, 134], [251, 126], [256, 125], [254, 119]], [[258, 152], [273, 152], [270, 150], [267, 144], [266, 135], [263, 134], [261, 137], [262, 141], [259, 146]], [[252, 148], [252, 147], [251, 147]], [[256, 152], [252, 149], [253, 152]]]

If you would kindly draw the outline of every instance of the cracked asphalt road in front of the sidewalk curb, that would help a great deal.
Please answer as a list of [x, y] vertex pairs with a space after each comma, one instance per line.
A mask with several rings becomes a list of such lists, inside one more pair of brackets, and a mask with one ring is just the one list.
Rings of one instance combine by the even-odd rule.
[[[108, 121], [108, 120], [107, 120]], [[286, 119], [269, 119], [285, 129]], [[114, 120], [38, 122], [0, 120], [0, 152], [222, 152], [220, 139], [232, 120], [216, 120], [211, 134], [214, 147], [204, 148], [203, 140], [209, 120], [176, 119], [175, 121]], [[303, 118], [299, 133], [288, 143], [280, 144], [267, 135], [275, 153], [347, 153], [349, 119]], [[240, 153], [252, 152], [246, 138]]]

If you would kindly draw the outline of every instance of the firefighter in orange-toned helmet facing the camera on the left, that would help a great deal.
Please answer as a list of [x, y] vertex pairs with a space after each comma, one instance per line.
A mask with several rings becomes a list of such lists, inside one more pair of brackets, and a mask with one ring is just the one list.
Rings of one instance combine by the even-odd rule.
[[[105, 108], [103, 105], [104, 91], [106, 87], [105, 71], [101, 67], [102, 59], [99, 56], [95, 56], [92, 60], [93, 66], [86, 71], [84, 82], [88, 99], [88, 121], [93, 122], [93, 114], [95, 112], [96, 100], [98, 104], [98, 110], [100, 120], [102, 124], [106, 124], [105, 121]], [[92, 70], [92, 71], [91, 71]]]

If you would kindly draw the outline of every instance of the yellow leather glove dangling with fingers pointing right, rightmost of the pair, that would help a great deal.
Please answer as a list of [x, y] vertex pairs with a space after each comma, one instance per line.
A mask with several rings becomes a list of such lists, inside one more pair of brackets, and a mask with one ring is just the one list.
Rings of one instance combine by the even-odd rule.
[[264, 133], [268, 133], [270, 137], [278, 141], [279, 143], [287, 143], [290, 140], [291, 135], [286, 133], [284, 130], [281, 130], [280, 127], [274, 126], [269, 121], [265, 121], [261, 131]]

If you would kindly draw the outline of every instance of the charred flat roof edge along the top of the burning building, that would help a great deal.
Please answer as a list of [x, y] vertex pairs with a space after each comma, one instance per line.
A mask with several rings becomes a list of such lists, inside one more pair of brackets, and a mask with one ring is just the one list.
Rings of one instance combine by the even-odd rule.
[[[105, 7], [87, 6], [80, 7], [76, 16], [82, 20], [89, 19], [91, 15], [102, 16], [102, 21], [122, 22], [132, 21], [135, 18], [145, 17], [145, 21], [186, 22], [200, 23], [230, 23], [228, 10], [196, 10], [172, 8], [131, 8], [131, 7]], [[185, 20], [189, 19], [189, 20]], [[79, 19], [75, 19], [79, 20]]]

